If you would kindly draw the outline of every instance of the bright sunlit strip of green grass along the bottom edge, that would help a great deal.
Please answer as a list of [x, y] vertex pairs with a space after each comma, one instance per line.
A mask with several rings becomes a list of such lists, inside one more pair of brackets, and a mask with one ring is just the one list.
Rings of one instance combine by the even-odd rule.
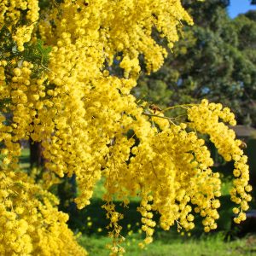
[[[127, 256], [240, 256], [256, 255], [256, 236], [247, 236], [236, 241], [224, 242], [224, 236], [219, 233], [213, 236], [201, 236], [199, 239], [180, 237], [169, 241], [156, 240], [146, 249], [137, 246], [141, 240], [136, 236], [128, 237], [123, 247]], [[80, 244], [93, 256], [107, 256], [107, 237], [82, 236]]]

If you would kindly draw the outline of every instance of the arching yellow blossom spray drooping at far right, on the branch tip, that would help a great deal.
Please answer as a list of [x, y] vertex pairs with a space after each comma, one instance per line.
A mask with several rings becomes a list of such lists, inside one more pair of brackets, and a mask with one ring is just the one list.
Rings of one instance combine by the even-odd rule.
[[252, 187], [248, 185], [247, 156], [243, 155], [240, 148], [241, 141], [236, 139], [235, 131], [220, 121], [223, 120], [230, 125], [236, 125], [235, 115], [230, 113], [229, 108], [223, 108], [219, 103], [208, 103], [207, 100], [203, 100], [199, 106], [189, 109], [188, 117], [189, 126], [203, 134], [208, 134], [224, 160], [234, 160], [235, 162], [234, 176], [236, 179], [230, 195], [231, 200], [240, 205], [240, 209], [235, 207], [233, 210], [238, 214], [234, 220], [236, 223], [240, 223], [246, 218], [244, 211], [249, 208], [247, 202], [252, 200], [251, 195], [247, 194], [252, 190]]

